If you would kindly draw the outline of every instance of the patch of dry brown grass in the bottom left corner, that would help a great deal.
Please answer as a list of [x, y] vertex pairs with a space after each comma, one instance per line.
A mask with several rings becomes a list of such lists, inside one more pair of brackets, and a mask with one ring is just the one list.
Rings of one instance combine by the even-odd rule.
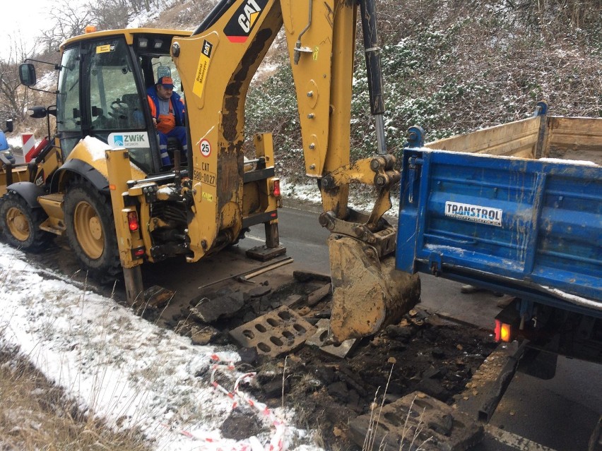
[[18, 349], [0, 344], [1, 451], [147, 449], [140, 433], [112, 431], [81, 411]]

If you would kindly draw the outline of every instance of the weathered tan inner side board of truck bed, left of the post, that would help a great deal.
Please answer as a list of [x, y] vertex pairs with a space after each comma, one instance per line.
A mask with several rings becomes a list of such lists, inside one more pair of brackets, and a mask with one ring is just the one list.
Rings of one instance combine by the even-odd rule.
[[541, 116], [510, 122], [473, 133], [426, 143], [425, 147], [454, 152], [478, 152], [533, 158]]

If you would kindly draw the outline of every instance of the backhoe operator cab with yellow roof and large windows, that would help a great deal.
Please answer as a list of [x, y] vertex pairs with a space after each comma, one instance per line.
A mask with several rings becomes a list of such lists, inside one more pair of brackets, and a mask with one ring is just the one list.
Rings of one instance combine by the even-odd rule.
[[63, 158], [81, 138], [94, 136], [128, 149], [131, 161], [146, 174], [170, 169], [161, 165], [146, 89], [170, 76], [184, 97], [170, 46], [174, 36], [187, 35], [140, 28], [93, 32], [64, 42], [57, 93]]

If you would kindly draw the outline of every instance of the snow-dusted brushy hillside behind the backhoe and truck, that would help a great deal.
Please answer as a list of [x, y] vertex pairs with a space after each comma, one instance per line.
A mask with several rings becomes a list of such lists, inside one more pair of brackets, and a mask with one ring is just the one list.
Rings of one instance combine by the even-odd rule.
[[[129, 26], [192, 30], [214, 4], [151, 2], [151, 11], [131, 16]], [[547, 100], [554, 115], [602, 112], [601, 0], [408, 0], [403, 5], [377, 0], [377, 11], [391, 152], [399, 151], [410, 126], [422, 126], [427, 140], [435, 140], [524, 118], [538, 100]], [[360, 28], [351, 105], [353, 158], [372, 155], [376, 142]], [[303, 179], [297, 105], [282, 35], [260, 73], [247, 100], [247, 136], [273, 133], [281, 175]], [[52, 103], [38, 94], [30, 92], [30, 105]]]

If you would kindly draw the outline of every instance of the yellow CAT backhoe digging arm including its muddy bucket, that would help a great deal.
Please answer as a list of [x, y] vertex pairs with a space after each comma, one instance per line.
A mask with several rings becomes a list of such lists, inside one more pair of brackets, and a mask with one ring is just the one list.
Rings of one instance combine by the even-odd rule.
[[[379, 155], [350, 162], [350, 104], [358, 4], [348, 0], [223, 0], [190, 37], [172, 41], [186, 94], [194, 219], [190, 260], [242, 228], [244, 102], [249, 83], [282, 29], [297, 94], [305, 172], [317, 179], [331, 230], [335, 341], [377, 332], [417, 301], [420, 282], [394, 270], [396, 229], [384, 212], [399, 181], [386, 154], [374, 0], [360, 1]], [[268, 152], [270, 155], [272, 151]], [[351, 184], [377, 193], [370, 215], [348, 208]], [[215, 221], [209, 220], [215, 218]], [[231, 241], [231, 240], [230, 240]]]

